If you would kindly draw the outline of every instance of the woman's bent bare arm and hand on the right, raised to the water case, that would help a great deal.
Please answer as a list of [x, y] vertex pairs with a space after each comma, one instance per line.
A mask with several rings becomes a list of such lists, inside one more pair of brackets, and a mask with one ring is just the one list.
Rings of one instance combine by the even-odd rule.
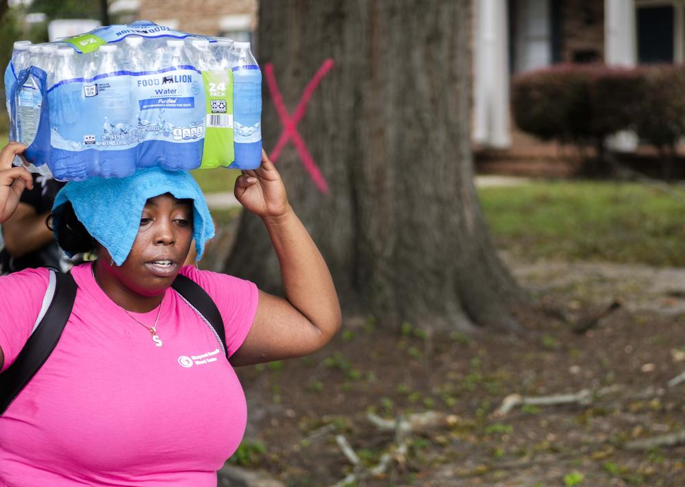
[[340, 329], [338, 295], [321, 252], [290, 207], [283, 182], [265, 153], [260, 168], [238, 177], [235, 194], [264, 221], [286, 299], [260, 291], [252, 328], [231, 363], [250, 365], [319, 350]]

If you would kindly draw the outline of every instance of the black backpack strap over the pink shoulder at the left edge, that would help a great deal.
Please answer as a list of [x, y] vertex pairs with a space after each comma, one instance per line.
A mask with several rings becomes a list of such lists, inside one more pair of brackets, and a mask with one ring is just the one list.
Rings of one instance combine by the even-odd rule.
[[71, 274], [61, 272], [50, 271], [50, 274], [55, 278], [54, 294], [50, 300], [51, 285], [49, 285], [41, 313], [45, 311], [46, 305], [48, 305], [47, 311], [42, 318], [38, 316], [34, 331], [16, 356], [16, 360], [0, 374], [0, 415], [7, 410], [14, 398], [50, 356], [60, 341], [62, 330], [71, 315], [78, 289], [74, 278]]

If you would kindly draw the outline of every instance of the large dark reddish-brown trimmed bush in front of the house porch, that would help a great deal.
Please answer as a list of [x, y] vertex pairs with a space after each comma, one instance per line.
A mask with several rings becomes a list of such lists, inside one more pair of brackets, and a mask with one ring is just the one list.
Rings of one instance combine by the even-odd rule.
[[[514, 120], [521, 130], [543, 140], [593, 146], [599, 157], [606, 138], [622, 130], [640, 133], [651, 129], [655, 133], [647, 137], [650, 141], [658, 137], [672, 141], [676, 131], [684, 133], [682, 123], [669, 120], [654, 124], [645, 120], [660, 117], [662, 105], [671, 103], [674, 97], [684, 99], [671, 107], [673, 118], [685, 113], [685, 72], [672, 68], [660, 73], [653, 68], [609, 68], [603, 64], [566, 64], [525, 73], [513, 82]], [[673, 83], [675, 73], [683, 78], [677, 87], [656, 88], [655, 83]], [[659, 93], [654, 94], [655, 90]], [[663, 99], [656, 103], [654, 97]]]

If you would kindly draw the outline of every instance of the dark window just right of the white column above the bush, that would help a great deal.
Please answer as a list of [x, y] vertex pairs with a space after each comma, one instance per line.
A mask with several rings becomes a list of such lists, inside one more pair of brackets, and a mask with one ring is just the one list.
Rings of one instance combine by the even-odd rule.
[[637, 9], [638, 62], [673, 62], [673, 7]]

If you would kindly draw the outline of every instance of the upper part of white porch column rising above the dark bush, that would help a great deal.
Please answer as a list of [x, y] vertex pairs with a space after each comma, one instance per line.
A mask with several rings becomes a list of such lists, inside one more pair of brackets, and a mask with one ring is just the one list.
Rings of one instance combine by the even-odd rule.
[[636, 64], [633, 0], [604, 0], [604, 61], [630, 68]]

